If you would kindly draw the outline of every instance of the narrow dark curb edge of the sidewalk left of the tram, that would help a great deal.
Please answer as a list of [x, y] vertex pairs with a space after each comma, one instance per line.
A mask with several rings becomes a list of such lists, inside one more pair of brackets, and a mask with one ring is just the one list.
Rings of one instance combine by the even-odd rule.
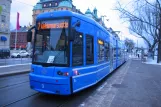
[[23, 70], [23, 71], [10, 71], [7, 73], [0, 73], [0, 77], [12, 76], [12, 75], [16, 75], [16, 74], [24, 74], [24, 73], [29, 73], [29, 72], [30, 72], [30, 69]]

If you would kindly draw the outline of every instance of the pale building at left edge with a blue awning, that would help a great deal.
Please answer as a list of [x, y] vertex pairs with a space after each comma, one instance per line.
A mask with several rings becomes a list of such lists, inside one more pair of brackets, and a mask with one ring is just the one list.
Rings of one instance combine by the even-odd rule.
[[0, 49], [9, 48], [11, 3], [12, 0], [0, 0]]

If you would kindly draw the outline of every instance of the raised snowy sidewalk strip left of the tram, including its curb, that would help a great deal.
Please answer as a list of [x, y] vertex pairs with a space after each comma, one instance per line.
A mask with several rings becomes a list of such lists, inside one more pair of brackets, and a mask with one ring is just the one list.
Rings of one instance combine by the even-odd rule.
[[31, 63], [0, 66], [0, 77], [28, 73], [30, 72]]

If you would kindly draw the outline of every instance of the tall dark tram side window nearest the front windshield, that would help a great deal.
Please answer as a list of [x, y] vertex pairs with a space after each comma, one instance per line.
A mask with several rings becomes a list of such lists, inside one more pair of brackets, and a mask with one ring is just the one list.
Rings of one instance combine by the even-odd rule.
[[83, 65], [83, 34], [77, 32], [72, 45], [73, 66]]

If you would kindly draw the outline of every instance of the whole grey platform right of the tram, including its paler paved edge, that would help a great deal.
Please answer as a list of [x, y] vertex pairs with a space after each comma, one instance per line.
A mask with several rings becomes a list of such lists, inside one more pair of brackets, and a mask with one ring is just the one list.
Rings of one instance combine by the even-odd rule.
[[161, 107], [161, 65], [129, 59], [79, 107]]

